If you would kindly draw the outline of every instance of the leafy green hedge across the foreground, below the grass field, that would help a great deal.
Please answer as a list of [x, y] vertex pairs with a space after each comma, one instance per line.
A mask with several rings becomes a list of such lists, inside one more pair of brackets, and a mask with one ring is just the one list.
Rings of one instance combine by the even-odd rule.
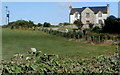
[[91, 59], [59, 58], [58, 55], [47, 55], [41, 51], [29, 51], [15, 54], [10, 61], [3, 61], [2, 73], [81, 73], [81, 74], [119, 74], [119, 55], [103, 55]]

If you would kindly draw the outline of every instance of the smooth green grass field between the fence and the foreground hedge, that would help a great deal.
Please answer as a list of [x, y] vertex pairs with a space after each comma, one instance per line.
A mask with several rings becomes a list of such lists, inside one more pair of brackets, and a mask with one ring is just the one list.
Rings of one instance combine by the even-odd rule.
[[58, 54], [62, 58], [88, 58], [115, 52], [115, 46], [68, 41], [40, 31], [3, 29], [2, 34], [2, 55], [6, 60], [15, 53], [26, 53], [30, 48], [47, 54]]

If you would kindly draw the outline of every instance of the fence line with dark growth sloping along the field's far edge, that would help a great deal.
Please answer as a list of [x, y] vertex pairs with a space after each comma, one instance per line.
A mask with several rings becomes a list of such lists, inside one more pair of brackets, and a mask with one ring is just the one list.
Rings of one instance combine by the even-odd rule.
[[117, 42], [120, 40], [120, 37], [115, 37], [115, 36], [108, 36], [108, 35], [83, 35], [82, 33], [78, 32], [61, 32], [57, 30], [52, 30], [52, 29], [40, 29], [43, 32], [46, 32], [48, 34], [56, 35], [56, 36], [61, 36], [65, 38], [71, 38], [71, 39], [79, 39], [81, 41], [90, 41], [94, 43], [102, 43], [105, 40], [112, 40], [114, 42]]

